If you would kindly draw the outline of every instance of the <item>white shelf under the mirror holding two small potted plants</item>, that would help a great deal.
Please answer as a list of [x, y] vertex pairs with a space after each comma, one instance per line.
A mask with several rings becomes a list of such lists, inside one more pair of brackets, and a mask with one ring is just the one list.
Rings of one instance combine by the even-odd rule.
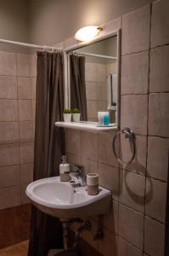
[[94, 122], [55, 122], [54, 123], [56, 126], [59, 127], [65, 127], [65, 128], [70, 128], [70, 129], [76, 129], [76, 130], [83, 130], [83, 131], [112, 131], [112, 130], [116, 130], [116, 125], [112, 124], [112, 126], [109, 127], [99, 127], [97, 126], [98, 123], [94, 123]]

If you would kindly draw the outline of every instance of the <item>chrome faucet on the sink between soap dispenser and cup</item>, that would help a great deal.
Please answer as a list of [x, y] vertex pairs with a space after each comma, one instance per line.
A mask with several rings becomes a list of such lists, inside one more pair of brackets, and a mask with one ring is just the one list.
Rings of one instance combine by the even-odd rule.
[[84, 166], [78, 164], [70, 165], [70, 176], [77, 178], [79, 187], [86, 186]]

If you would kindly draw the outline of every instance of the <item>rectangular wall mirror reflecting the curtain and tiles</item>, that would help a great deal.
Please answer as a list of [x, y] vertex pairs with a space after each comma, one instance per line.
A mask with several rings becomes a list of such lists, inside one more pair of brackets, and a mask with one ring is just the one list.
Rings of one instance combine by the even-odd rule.
[[98, 122], [98, 112], [109, 112], [119, 127], [121, 33], [65, 49], [67, 107], [79, 108], [81, 121]]

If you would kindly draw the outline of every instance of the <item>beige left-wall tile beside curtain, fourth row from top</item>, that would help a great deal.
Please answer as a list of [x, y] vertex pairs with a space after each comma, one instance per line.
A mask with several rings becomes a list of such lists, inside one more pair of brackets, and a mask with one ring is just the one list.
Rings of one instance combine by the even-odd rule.
[[34, 141], [33, 121], [20, 122], [20, 143], [30, 143]]

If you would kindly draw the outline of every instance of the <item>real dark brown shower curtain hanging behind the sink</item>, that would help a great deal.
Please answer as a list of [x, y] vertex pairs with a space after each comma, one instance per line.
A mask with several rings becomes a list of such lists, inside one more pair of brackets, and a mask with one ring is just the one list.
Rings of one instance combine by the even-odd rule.
[[[64, 110], [63, 55], [37, 53], [37, 103], [34, 180], [59, 174], [61, 155], [65, 153], [64, 131], [54, 128]], [[32, 207], [28, 256], [47, 256], [51, 248], [63, 247], [59, 219]]]

